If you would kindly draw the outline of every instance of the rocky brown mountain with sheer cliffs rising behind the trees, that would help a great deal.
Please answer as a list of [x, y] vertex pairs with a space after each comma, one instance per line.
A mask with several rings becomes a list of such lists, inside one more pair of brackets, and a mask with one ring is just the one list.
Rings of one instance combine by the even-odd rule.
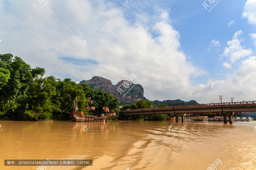
[[[112, 82], [110, 80], [103, 77], [94, 76], [92, 77], [92, 79], [83, 80], [80, 83], [93, 85], [94, 90], [102, 89], [104, 92], [110, 92], [110, 94], [112, 94], [115, 97], [115, 99], [118, 99], [120, 103], [123, 103], [123, 102], [135, 103], [137, 100], [140, 100], [144, 97], [144, 90], [140, 84], [136, 84], [136, 85], [132, 84], [131, 87], [133, 85], [135, 86], [129, 91], [129, 93], [127, 93], [123, 97], [123, 95], [126, 92], [128, 92], [128, 89], [125, 88], [123, 85], [121, 85], [124, 81], [125, 80], [121, 80], [116, 85], [112, 85]], [[125, 92], [121, 92], [120, 94], [120, 92], [118, 92], [117, 90], [119, 86], [122, 89], [122, 91], [125, 91]]]

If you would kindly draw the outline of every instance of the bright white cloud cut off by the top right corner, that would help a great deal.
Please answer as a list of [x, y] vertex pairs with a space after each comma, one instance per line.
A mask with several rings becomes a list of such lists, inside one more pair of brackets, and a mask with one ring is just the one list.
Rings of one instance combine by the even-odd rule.
[[248, 23], [256, 24], [256, 0], [247, 0], [243, 10], [243, 17], [248, 18]]

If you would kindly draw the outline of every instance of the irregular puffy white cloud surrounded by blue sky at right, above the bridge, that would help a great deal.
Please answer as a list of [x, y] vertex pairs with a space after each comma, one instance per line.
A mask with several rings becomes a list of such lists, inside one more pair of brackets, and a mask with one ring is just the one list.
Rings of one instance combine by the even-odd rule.
[[[234, 63], [238, 61], [239, 58], [242, 56], [248, 56], [252, 53], [252, 50], [249, 49], [243, 49], [243, 47], [240, 45], [241, 41], [243, 39], [239, 39], [239, 36], [242, 34], [242, 31], [235, 32], [232, 41], [228, 41], [227, 45], [228, 47], [225, 47], [224, 52], [220, 55], [219, 59], [222, 59], [222, 57], [228, 57], [229, 61], [231, 63]], [[227, 65], [227, 63], [223, 63], [223, 65]]]

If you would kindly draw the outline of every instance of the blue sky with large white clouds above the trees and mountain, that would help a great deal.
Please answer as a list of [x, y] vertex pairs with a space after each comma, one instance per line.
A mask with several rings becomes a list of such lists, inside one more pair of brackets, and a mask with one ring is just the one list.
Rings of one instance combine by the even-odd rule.
[[0, 53], [76, 82], [134, 73], [150, 100], [255, 100], [256, 0], [203, 2], [1, 1]]

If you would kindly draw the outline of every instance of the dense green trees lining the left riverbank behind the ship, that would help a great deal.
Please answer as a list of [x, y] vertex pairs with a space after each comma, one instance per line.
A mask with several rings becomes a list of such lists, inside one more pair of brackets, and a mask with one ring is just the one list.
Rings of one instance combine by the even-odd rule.
[[[70, 104], [75, 100], [79, 112], [91, 115], [101, 114], [104, 106], [116, 111], [119, 105], [118, 99], [102, 89], [93, 90], [93, 86], [70, 78], [43, 78], [44, 74], [43, 68], [33, 69], [17, 56], [0, 54], [0, 118], [70, 120], [67, 112], [73, 111], [74, 104]], [[95, 111], [86, 108], [90, 99]]]

